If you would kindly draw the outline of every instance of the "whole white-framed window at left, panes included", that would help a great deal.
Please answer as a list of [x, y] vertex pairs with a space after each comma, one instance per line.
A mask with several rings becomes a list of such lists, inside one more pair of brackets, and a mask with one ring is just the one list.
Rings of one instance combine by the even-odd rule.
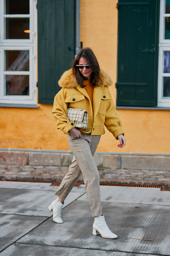
[[36, 104], [36, 1], [0, 0], [0, 103]]

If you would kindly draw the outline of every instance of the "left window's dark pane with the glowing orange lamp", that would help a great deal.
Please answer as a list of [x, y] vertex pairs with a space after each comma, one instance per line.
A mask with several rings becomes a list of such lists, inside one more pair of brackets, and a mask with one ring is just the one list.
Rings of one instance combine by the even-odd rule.
[[29, 18], [6, 18], [6, 39], [29, 39]]

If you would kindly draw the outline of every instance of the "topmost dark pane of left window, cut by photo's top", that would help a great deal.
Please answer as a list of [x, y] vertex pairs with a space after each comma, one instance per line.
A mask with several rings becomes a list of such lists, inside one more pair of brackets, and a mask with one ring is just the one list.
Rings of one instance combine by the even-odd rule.
[[29, 0], [6, 0], [6, 14], [29, 13]]

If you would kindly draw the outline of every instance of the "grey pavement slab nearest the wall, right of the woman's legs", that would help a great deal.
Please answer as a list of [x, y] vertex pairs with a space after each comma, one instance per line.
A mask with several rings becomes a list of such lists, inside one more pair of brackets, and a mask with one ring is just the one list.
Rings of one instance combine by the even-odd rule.
[[[100, 186], [101, 201], [150, 205], [170, 205], [170, 191], [160, 188]], [[88, 200], [87, 194], [79, 198]]]

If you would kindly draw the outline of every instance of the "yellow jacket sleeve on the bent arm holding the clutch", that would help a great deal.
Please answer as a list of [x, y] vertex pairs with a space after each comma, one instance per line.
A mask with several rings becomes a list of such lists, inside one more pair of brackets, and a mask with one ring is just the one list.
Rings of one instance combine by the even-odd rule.
[[67, 103], [65, 102], [64, 91], [62, 89], [55, 95], [52, 114], [57, 123], [57, 129], [69, 134], [69, 131], [74, 128], [75, 125], [73, 122], [70, 122], [66, 116], [66, 113]]

